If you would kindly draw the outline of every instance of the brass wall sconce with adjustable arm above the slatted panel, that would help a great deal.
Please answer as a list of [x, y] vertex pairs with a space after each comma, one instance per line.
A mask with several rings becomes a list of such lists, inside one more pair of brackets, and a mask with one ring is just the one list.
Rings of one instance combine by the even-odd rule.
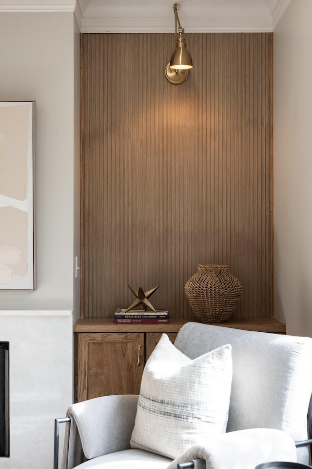
[[[192, 57], [186, 48], [184, 39], [184, 28], [182, 28], [177, 10], [179, 5], [174, 4], [175, 13], [175, 39], [176, 39], [176, 50], [171, 56], [169, 64], [166, 66], [165, 74], [167, 80], [171, 83], [182, 83], [189, 74], [189, 69], [193, 68]], [[177, 28], [178, 26], [178, 28]], [[178, 35], [177, 35], [178, 29]]]

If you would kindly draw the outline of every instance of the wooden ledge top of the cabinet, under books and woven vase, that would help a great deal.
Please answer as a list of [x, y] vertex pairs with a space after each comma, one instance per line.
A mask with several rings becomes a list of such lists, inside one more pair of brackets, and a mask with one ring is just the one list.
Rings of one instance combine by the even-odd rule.
[[[116, 324], [113, 318], [81, 318], [74, 324], [74, 332], [177, 332], [183, 324], [190, 321], [198, 322], [192, 318], [173, 318], [169, 324]], [[286, 334], [286, 324], [275, 318], [233, 318], [209, 324], [246, 331]]]

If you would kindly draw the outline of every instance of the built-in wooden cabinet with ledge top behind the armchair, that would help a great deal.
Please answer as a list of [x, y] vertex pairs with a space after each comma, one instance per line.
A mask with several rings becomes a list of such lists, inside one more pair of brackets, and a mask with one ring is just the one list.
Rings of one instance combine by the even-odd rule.
[[[80, 319], [74, 324], [75, 402], [110, 394], [138, 394], [144, 364], [165, 332], [174, 342], [188, 320], [170, 324], [115, 324], [112, 319]], [[224, 327], [285, 333], [268, 319], [232, 320]]]

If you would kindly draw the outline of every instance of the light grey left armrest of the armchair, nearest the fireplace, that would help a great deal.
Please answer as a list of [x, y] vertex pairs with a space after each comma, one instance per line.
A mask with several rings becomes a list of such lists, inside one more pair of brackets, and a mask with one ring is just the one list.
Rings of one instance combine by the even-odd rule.
[[71, 426], [63, 454], [68, 463], [62, 463], [62, 468], [71, 469], [85, 460], [77, 459], [80, 448], [86, 459], [130, 448], [137, 398], [132, 394], [103, 396], [71, 405], [66, 414]]

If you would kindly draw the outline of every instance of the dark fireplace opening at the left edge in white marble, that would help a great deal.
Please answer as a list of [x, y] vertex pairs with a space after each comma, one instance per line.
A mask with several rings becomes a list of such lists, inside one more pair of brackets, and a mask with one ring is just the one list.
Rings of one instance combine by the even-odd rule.
[[9, 457], [9, 342], [0, 342], [0, 457]]

